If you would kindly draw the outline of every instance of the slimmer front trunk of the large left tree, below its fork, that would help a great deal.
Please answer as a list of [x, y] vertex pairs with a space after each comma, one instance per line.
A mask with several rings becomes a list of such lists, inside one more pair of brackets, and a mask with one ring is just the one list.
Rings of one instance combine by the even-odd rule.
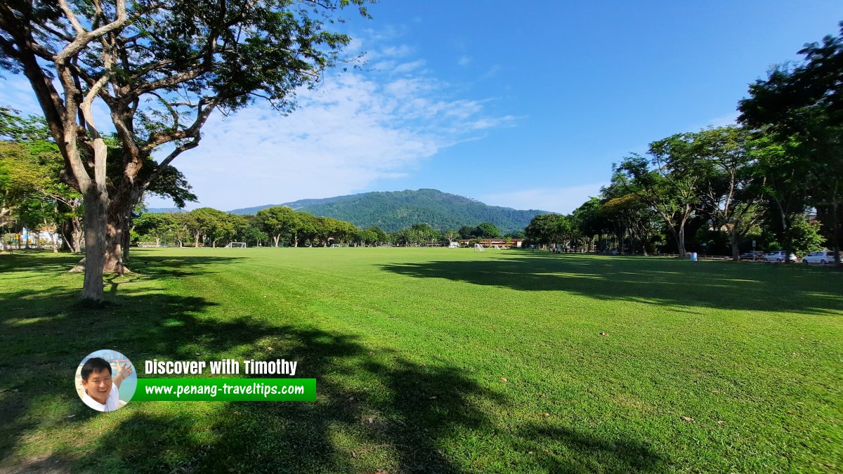
[[91, 186], [84, 194], [85, 214], [85, 278], [82, 299], [101, 301], [103, 299], [103, 267], [105, 264], [105, 240], [107, 237], [108, 195], [105, 190]]

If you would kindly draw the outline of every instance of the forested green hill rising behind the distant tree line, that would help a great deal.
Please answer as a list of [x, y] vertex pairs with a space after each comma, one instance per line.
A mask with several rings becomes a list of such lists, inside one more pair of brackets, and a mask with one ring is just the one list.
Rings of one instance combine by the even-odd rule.
[[[418, 191], [386, 191], [352, 194], [325, 199], [303, 199], [277, 204], [289, 206], [317, 216], [338, 218], [360, 228], [377, 225], [387, 232], [404, 229], [412, 224], [430, 224], [434, 229], [459, 229], [464, 225], [483, 222], [495, 224], [502, 232], [523, 230], [531, 218], [547, 211], [519, 211], [510, 207], [489, 206], [468, 197], [448, 194], [435, 189]], [[229, 211], [234, 214], [254, 214], [260, 207]]]

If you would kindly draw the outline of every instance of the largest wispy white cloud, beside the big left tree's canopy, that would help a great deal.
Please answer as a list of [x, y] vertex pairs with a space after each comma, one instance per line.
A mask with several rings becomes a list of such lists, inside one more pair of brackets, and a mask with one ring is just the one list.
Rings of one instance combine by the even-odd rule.
[[329, 197], [408, 175], [442, 148], [516, 120], [491, 115], [486, 100], [449, 97], [436, 78], [390, 77], [329, 76], [319, 89], [300, 91], [290, 116], [263, 104], [214, 116], [200, 147], [174, 164], [205, 206]]

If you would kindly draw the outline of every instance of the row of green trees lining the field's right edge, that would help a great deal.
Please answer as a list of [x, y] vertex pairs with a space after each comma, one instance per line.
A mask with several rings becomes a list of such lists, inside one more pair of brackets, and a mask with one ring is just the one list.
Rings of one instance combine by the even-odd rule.
[[[539, 244], [685, 256], [728, 242], [797, 254], [835, 250], [843, 218], [843, 23], [806, 46], [797, 66], [774, 67], [738, 105], [739, 126], [679, 133], [613, 167], [611, 184], [570, 216], [537, 216]], [[718, 240], [720, 241], [718, 244]]]

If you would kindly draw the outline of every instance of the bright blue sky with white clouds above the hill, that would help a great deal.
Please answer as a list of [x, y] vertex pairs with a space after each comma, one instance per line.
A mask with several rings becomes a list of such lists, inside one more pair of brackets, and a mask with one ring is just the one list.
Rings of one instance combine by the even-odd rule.
[[[366, 52], [362, 70], [326, 74], [291, 116], [255, 105], [209, 121], [174, 162], [201, 200], [189, 208], [426, 187], [568, 213], [626, 154], [731, 123], [748, 83], [837, 32], [843, 2], [384, 0], [369, 11], [343, 27], [349, 53]], [[27, 88], [7, 76], [0, 103], [37, 112]]]

